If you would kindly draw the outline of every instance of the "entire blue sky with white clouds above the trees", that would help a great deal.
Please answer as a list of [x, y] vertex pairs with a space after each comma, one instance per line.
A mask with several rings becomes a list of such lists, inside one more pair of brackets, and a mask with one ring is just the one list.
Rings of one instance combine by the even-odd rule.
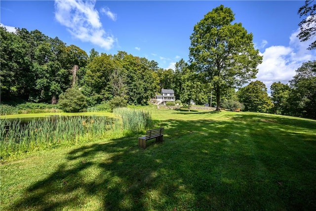
[[[235, 13], [264, 56], [257, 79], [267, 88], [288, 83], [303, 62], [316, 59], [311, 42], [299, 42], [297, 11], [304, 1], [0, 1], [0, 23], [39, 30], [75, 44], [87, 53], [116, 54], [118, 50], [174, 68], [189, 59], [193, 27], [213, 8], [223, 4]], [[12, 28], [13, 27], [13, 28]]]

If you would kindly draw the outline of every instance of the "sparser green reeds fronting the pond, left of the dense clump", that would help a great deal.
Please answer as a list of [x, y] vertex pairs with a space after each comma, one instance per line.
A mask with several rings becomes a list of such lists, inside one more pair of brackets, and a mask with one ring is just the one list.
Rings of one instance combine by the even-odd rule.
[[117, 121], [108, 117], [45, 118], [22, 124], [21, 120], [0, 120], [0, 158], [40, 148], [56, 148], [106, 137], [118, 130]]

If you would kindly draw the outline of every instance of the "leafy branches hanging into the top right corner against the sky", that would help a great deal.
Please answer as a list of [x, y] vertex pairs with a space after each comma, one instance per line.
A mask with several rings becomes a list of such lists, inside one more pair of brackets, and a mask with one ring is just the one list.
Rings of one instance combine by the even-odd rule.
[[[298, 14], [304, 19], [298, 24], [300, 34], [297, 37], [301, 41], [308, 41], [316, 35], [316, 4], [314, 0], [305, 0], [305, 4], [299, 8]], [[309, 50], [316, 49], [316, 41], [310, 44]]]

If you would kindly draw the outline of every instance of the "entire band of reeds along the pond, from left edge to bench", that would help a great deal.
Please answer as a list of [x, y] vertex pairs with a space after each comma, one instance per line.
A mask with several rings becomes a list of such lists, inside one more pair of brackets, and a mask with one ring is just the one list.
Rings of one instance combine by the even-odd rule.
[[151, 127], [148, 112], [119, 108], [116, 117], [46, 116], [0, 120], [0, 159], [45, 148], [109, 138], [114, 133]]

